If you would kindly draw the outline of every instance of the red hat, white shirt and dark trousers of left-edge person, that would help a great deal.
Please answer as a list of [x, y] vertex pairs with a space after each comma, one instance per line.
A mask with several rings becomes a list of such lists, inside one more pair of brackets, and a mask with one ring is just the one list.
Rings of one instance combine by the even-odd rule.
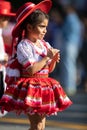
[[[15, 16], [15, 13], [11, 12], [11, 4], [8, 1], [0, 1], [0, 18], [3, 19], [3, 17], [12, 17]], [[5, 52], [5, 46], [4, 41], [2, 37], [2, 30], [3, 28], [0, 26], [0, 98], [3, 95], [4, 87], [6, 86], [4, 79], [5, 79], [5, 65], [4, 65], [4, 59], [7, 55]]]

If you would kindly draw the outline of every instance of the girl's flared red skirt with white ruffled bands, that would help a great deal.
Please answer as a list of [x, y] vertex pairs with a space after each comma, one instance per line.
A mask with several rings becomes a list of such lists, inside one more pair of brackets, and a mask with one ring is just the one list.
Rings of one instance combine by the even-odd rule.
[[59, 82], [53, 78], [19, 78], [9, 84], [0, 100], [8, 112], [53, 115], [72, 104]]

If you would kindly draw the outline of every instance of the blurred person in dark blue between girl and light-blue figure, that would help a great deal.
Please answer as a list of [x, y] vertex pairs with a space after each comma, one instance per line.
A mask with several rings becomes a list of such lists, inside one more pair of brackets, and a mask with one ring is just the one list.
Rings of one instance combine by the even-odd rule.
[[[57, 48], [62, 53], [62, 26], [65, 18], [65, 12], [60, 3], [55, 3], [54, 8], [50, 12], [50, 21], [45, 36], [46, 41], [51, 43], [54, 48]], [[56, 65], [55, 70], [50, 74], [51, 77], [59, 80], [60, 63]]]

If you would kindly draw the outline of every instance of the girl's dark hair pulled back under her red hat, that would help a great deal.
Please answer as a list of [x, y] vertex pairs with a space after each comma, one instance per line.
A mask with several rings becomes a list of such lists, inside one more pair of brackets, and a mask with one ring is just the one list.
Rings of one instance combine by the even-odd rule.
[[41, 10], [35, 10], [33, 13], [31, 13], [21, 24], [20, 26], [20, 34], [18, 34], [18, 42], [21, 41], [23, 36], [25, 36], [24, 31], [26, 31], [27, 24], [31, 24], [33, 27], [40, 24], [44, 19], [49, 20], [48, 14], [42, 12]]

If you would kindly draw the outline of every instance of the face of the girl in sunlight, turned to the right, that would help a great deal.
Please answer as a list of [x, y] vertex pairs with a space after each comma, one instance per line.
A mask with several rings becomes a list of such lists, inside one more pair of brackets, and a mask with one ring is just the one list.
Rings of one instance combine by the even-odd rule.
[[38, 39], [42, 40], [47, 32], [48, 19], [44, 19], [43, 22], [36, 25], [35, 27], [29, 27], [28, 37], [32, 42], [36, 42]]

